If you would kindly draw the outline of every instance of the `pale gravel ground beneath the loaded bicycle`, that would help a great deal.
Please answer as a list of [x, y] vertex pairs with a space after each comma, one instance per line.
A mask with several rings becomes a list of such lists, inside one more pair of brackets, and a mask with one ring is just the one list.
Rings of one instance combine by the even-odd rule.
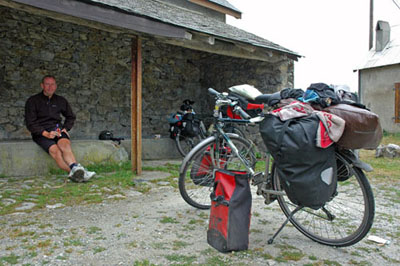
[[[165, 174], [145, 172], [143, 179]], [[327, 247], [292, 226], [268, 245], [285, 217], [277, 203], [267, 206], [253, 193], [249, 250], [219, 253], [206, 240], [209, 211], [190, 207], [168, 184], [152, 184], [146, 194], [125, 191], [99, 204], [0, 216], [0, 265], [400, 265], [398, 200], [374, 193], [369, 235], [390, 240], [386, 245], [365, 238]]]

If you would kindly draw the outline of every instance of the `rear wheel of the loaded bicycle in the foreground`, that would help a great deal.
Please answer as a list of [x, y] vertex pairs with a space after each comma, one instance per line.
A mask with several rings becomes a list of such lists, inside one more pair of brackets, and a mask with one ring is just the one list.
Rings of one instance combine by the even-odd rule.
[[[313, 210], [303, 208], [291, 219], [293, 226], [303, 235], [318, 243], [346, 247], [354, 245], [369, 232], [375, 214], [374, 196], [363, 171], [336, 153], [338, 176], [347, 176], [339, 181], [337, 194], [325, 204], [334, 215], [329, 220], [322, 208]], [[273, 167], [275, 169], [275, 167]], [[275, 190], [282, 190], [277, 172], [273, 171], [272, 183]], [[297, 207], [286, 196], [278, 196], [278, 203], [286, 217]]]

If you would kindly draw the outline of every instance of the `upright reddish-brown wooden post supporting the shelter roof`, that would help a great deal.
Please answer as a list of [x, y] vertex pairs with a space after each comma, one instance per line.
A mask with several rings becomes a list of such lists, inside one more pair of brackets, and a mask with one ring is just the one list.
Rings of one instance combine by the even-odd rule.
[[132, 171], [142, 174], [142, 41], [132, 39], [131, 74], [131, 162]]

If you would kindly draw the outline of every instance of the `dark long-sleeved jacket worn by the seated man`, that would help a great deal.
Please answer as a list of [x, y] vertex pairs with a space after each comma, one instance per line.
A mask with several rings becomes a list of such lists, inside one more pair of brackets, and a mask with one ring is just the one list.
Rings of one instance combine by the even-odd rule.
[[[65, 117], [64, 124], [61, 124], [61, 114]], [[31, 96], [25, 104], [26, 127], [32, 135], [41, 135], [44, 130], [53, 131], [57, 124], [61, 129], [70, 130], [75, 118], [68, 101], [56, 94], [49, 98], [42, 91]]]

